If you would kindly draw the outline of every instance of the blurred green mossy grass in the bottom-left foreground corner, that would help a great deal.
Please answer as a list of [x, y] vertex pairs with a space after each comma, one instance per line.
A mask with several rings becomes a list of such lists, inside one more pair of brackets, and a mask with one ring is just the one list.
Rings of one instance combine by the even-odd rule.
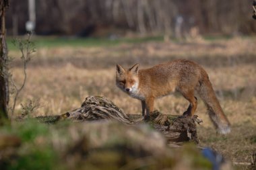
[[15, 148], [15, 157], [0, 160], [0, 167], [7, 170], [61, 169], [60, 156], [51, 144], [51, 126], [28, 119], [1, 127], [0, 134], [17, 136], [22, 144]]

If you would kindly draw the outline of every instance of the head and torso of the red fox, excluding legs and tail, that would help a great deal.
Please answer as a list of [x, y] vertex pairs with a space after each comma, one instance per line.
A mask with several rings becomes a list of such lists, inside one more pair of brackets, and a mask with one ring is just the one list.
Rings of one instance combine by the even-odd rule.
[[189, 60], [174, 60], [149, 69], [139, 70], [138, 67], [136, 64], [124, 69], [117, 65], [116, 84], [131, 97], [139, 95], [139, 99], [162, 97], [191, 85], [195, 87], [201, 76], [201, 67]]

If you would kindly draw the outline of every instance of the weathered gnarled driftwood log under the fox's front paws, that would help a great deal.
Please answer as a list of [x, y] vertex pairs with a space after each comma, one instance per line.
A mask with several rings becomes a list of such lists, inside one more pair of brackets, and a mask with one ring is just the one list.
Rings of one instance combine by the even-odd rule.
[[[59, 119], [71, 119], [75, 121], [94, 121], [94, 120], [117, 120], [124, 124], [138, 124], [145, 122], [140, 115], [125, 114], [117, 105], [105, 97], [90, 96], [82, 103], [81, 108], [67, 112]], [[193, 118], [185, 116], [169, 116], [154, 111], [151, 114], [148, 124], [151, 124], [156, 130], [162, 132], [166, 137], [168, 144], [179, 144], [192, 140], [198, 143], [196, 122], [201, 120], [197, 116]]]

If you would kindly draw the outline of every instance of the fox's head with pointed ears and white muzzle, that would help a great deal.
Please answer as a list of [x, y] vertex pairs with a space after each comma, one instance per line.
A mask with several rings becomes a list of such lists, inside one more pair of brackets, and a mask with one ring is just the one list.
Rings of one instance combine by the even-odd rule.
[[133, 93], [139, 85], [139, 64], [133, 65], [129, 69], [124, 69], [121, 65], [116, 67], [116, 84], [121, 90], [126, 93]]

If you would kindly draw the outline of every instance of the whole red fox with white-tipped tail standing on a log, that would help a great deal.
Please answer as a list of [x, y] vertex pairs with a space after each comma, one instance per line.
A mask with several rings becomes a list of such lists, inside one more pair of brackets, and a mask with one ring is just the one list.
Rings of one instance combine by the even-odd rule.
[[156, 98], [174, 91], [189, 101], [189, 108], [183, 115], [193, 116], [197, 109], [196, 92], [203, 99], [218, 131], [222, 134], [230, 132], [230, 123], [220, 107], [206, 71], [191, 60], [173, 60], [149, 69], [139, 69], [139, 64], [129, 69], [117, 65], [116, 84], [131, 97], [141, 100], [145, 119], [154, 111]]

